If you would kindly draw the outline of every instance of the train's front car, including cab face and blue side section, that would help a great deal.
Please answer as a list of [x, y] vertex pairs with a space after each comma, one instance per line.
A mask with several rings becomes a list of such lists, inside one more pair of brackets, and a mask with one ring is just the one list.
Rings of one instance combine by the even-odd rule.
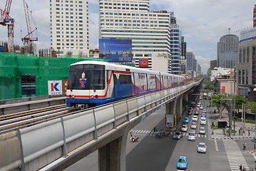
[[132, 96], [129, 67], [101, 61], [82, 61], [70, 66], [66, 104], [91, 108]]

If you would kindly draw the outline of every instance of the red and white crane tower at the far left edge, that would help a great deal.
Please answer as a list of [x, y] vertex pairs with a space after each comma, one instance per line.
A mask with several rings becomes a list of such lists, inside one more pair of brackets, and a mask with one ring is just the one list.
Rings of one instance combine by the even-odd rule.
[[12, 0], [6, 0], [4, 10], [1, 11], [0, 24], [8, 28], [8, 51], [14, 52], [14, 19], [9, 16]]

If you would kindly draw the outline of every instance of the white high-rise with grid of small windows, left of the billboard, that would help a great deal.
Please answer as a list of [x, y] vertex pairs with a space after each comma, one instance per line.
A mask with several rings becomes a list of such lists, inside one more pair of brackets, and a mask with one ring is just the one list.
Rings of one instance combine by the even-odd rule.
[[88, 0], [50, 0], [50, 18], [52, 51], [89, 55]]

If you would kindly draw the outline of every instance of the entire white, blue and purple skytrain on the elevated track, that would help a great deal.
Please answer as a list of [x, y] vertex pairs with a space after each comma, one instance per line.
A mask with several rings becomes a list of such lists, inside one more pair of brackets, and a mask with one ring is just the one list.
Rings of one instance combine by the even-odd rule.
[[183, 85], [183, 76], [103, 61], [81, 61], [69, 68], [66, 104], [91, 108]]

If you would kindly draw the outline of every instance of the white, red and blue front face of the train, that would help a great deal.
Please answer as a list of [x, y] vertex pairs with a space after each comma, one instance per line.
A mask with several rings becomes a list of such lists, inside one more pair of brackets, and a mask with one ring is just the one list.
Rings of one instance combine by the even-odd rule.
[[71, 64], [66, 91], [68, 107], [91, 108], [106, 103], [106, 67], [94, 61]]

